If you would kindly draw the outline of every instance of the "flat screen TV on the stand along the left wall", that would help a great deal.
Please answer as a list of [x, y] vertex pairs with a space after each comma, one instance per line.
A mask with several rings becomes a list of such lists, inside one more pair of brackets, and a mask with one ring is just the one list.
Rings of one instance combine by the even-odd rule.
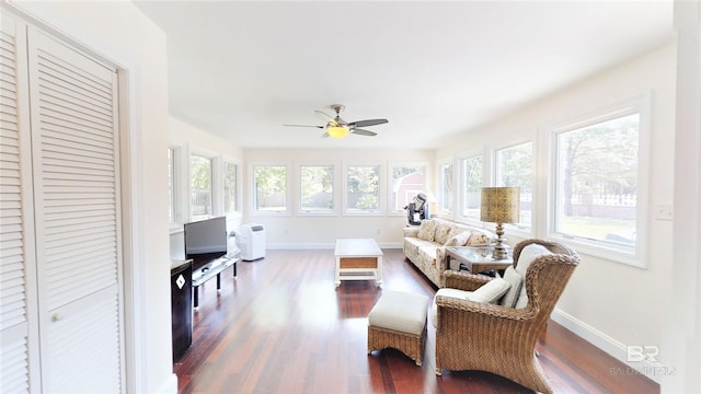
[[185, 258], [193, 269], [227, 254], [227, 218], [211, 218], [185, 223]]

